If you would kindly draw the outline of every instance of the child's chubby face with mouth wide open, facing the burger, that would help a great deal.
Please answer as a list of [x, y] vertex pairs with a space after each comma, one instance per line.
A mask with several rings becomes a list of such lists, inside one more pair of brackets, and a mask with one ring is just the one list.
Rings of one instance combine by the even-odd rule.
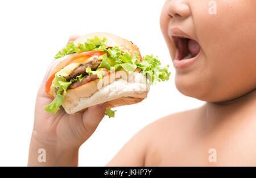
[[256, 87], [256, 1], [215, 0], [216, 15], [209, 14], [209, 2], [167, 0], [160, 26], [172, 61], [178, 50], [171, 29], [179, 28], [201, 47], [191, 65], [176, 68], [177, 89], [199, 100], [232, 100]]

